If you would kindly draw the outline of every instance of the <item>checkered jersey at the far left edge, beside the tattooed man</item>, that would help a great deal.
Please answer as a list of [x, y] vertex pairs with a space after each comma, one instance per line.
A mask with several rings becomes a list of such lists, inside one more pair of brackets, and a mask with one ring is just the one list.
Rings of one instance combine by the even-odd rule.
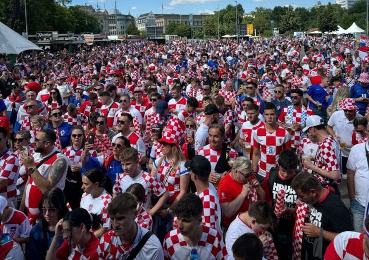
[[0, 165], [0, 179], [7, 181], [7, 185], [0, 189], [0, 196], [7, 199], [8, 202], [11, 202], [17, 195], [16, 187], [19, 172], [18, 156], [7, 149], [0, 155]]

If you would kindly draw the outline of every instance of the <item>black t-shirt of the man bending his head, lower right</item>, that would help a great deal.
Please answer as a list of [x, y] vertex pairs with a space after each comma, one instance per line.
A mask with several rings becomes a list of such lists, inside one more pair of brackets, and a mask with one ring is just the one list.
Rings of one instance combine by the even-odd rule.
[[[334, 193], [329, 191], [322, 201], [309, 207], [310, 215], [306, 222], [313, 223], [329, 232], [341, 233], [354, 230], [349, 210]], [[313, 257], [315, 239], [317, 238], [309, 238], [304, 234], [301, 259], [305, 259], [305, 254], [307, 254], [309, 260], [319, 260], [319, 258]], [[322, 255], [324, 255], [329, 243], [330, 241], [323, 239]]]

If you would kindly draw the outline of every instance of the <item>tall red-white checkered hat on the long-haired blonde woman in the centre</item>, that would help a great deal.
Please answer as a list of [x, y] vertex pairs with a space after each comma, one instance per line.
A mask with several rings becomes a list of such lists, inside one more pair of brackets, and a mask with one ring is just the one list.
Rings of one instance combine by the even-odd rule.
[[164, 134], [158, 142], [174, 144], [179, 147], [179, 143], [185, 138], [186, 126], [178, 118], [171, 118], [165, 127]]

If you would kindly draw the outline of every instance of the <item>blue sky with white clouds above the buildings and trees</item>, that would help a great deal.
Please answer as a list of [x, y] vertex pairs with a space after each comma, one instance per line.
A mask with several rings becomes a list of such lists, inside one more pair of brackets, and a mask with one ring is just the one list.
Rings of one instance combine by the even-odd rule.
[[[96, 8], [97, 4], [100, 8], [114, 8], [114, 0], [72, 0], [71, 5], [85, 3], [93, 5]], [[117, 0], [117, 9], [127, 14], [131, 12], [133, 16], [142, 13], [153, 11], [154, 13], [161, 13], [161, 0]], [[311, 7], [317, 3], [317, 0], [239, 0], [246, 12], [250, 12], [255, 7], [263, 6], [265, 8], [274, 8], [276, 5], [294, 5], [299, 7]], [[322, 4], [328, 3], [329, 0], [321, 0]], [[334, 2], [334, 0], [330, 0]], [[164, 13], [194, 13], [213, 12], [219, 4], [219, 9], [225, 8], [228, 4], [235, 4], [234, 0], [163, 0]]]

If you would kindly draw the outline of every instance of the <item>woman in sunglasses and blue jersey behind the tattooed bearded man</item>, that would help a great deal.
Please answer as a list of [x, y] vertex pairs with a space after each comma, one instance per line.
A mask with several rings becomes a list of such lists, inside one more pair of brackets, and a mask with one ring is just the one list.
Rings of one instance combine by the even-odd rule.
[[[73, 126], [63, 122], [62, 111], [59, 108], [52, 108], [49, 112], [48, 125], [56, 133], [56, 149], [64, 149], [69, 145], [70, 135]], [[60, 143], [60, 144], [59, 144]], [[60, 146], [60, 147], [59, 147]]]

